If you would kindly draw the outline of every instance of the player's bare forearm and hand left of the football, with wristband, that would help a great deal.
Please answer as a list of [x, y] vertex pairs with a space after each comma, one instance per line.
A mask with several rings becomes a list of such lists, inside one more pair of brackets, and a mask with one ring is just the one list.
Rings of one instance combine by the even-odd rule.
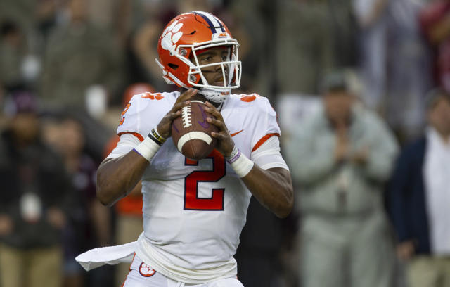
[[[172, 122], [181, 115], [181, 108], [188, 105], [189, 98], [196, 94], [189, 89], [176, 99], [174, 106], [162, 117], [156, 128], [160, 136], [170, 136]], [[97, 198], [103, 205], [113, 205], [126, 196], [141, 180], [150, 159], [158, 151], [159, 146], [150, 138], [146, 138], [128, 153], [117, 158], [106, 158], [97, 170]]]

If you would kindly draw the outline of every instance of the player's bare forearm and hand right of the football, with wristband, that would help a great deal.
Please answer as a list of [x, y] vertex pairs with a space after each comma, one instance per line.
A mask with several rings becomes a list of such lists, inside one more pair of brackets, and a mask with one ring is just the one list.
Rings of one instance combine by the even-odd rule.
[[287, 217], [294, 205], [290, 172], [281, 167], [262, 169], [246, 158], [235, 147], [221, 113], [212, 104], [207, 103], [207, 106], [207, 112], [215, 117], [208, 118], [207, 121], [219, 128], [218, 133], [211, 134], [218, 139], [217, 150], [224, 155], [259, 203], [274, 212], [277, 217]]

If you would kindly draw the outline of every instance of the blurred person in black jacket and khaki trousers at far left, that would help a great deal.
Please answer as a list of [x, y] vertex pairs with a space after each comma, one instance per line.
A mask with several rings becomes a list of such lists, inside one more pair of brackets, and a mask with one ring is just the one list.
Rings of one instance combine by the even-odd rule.
[[60, 158], [40, 140], [34, 95], [13, 95], [0, 136], [1, 286], [62, 283], [62, 231], [70, 215], [70, 181]]

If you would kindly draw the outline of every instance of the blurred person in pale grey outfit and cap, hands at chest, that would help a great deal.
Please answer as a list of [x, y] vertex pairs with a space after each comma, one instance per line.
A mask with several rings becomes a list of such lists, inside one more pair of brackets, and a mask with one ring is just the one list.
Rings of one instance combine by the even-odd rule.
[[356, 99], [350, 70], [328, 74], [323, 109], [287, 143], [301, 187], [300, 285], [390, 286], [394, 253], [383, 206], [397, 143]]

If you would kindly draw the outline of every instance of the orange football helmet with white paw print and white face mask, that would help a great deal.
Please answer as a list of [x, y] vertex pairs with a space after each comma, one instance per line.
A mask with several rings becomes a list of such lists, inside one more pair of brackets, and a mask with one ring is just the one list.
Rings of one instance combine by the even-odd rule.
[[[215, 46], [229, 47], [229, 57], [219, 63], [200, 65], [198, 51]], [[241, 63], [238, 60], [239, 43], [231, 37], [228, 27], [211, 13], [193, 11], [172, 19], [158, 41], [160, 60], [156, 63], [162, 69], [162, 77], [168, 84], [186, 89], [195, 87], [208, 100], [224, 101], [231, 89], [239, 87]], [[224, 85], [208, 84], [202, 68], [220, 65]]]

